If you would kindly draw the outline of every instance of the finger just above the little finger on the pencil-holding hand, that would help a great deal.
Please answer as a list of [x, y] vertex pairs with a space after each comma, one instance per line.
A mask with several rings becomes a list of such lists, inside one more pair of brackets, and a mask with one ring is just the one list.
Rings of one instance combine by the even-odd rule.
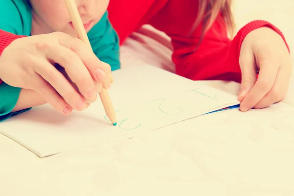
[[[38, 61], [34, 70], [43, 77], [74, 110], [83, 110], [86, 103], [65, 76], [47, 61]], [[41, 91], [41, 90], [39, 90]]]

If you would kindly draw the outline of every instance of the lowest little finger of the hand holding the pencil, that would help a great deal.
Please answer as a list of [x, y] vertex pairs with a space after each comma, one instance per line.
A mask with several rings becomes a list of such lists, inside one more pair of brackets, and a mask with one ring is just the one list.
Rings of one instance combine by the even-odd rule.
[[32, 80], [34, 90], [39, 95], [41, 95], [56, 111], [63, 115], [70, 115], [72, 113], [72, 108], [39, 74], [35, 74]]

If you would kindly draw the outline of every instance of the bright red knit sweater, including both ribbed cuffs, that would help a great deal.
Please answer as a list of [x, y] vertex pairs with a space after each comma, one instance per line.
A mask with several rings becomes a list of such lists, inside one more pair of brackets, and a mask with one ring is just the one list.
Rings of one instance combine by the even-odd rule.
[[[176, 66], [176, 73], [193, 80], [219, 79], [241, 82], [239, 54], [245, 36], [256, 28], [268, 26], [284, 38], [270, 23], [253, 21], [239, 30], [233, 40], [229, 40], [220, 15], [205, 34], [199, 48], [195, 49], [201, 34], [201, 26], [196, 28], [191, 36], [187, 35], [196, 19], [197, 2], [110, 0], [109, 20], [120, 37], [120, 44], [144, 24], [165, 32], [172, 39], [172, 60]], [[0, 55], [2, 50], [18, 37], [20, 36], [0, 31]]]

